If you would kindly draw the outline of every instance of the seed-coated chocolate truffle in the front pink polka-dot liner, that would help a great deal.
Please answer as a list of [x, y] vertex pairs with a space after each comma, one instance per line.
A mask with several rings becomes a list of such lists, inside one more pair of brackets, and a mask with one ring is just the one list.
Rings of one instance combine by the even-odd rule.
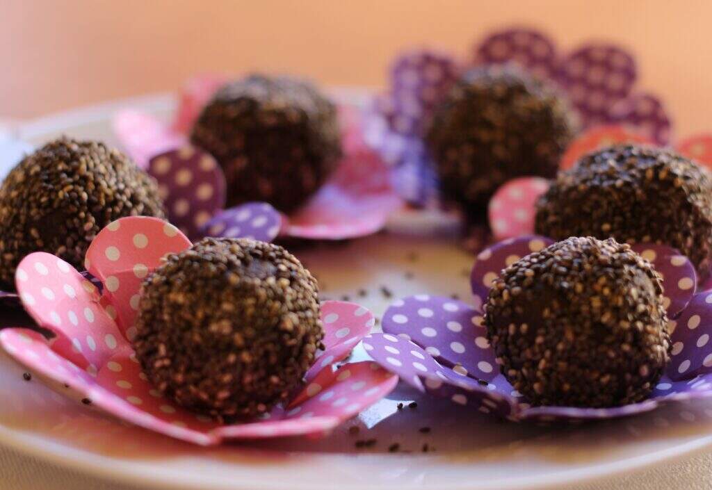
[[317, 282], [281, 246], [203, 239], [142, 283], [134, 347], [149, 380], [216, 419], [270, 410], [321, 346]]

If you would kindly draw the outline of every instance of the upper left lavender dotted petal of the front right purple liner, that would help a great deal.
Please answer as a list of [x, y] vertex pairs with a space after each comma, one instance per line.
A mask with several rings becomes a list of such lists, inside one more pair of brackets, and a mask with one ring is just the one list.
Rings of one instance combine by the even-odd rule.
[[382, 326], [384, 333], [412, 340], [460, 375], [486, 381], [498, 375], [482, 313], [462, 301], [428, 295], [403, 298], [389, 306]]

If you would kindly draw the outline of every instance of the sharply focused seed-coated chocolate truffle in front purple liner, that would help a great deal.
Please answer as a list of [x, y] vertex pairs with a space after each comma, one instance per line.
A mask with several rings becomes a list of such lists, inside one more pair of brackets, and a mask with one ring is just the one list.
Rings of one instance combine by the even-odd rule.
[[644, 400], [669, 361], [660, 275], [613, 239], [570, 238], [493, 282], [485, 324], [502, 374], [532, 405]]

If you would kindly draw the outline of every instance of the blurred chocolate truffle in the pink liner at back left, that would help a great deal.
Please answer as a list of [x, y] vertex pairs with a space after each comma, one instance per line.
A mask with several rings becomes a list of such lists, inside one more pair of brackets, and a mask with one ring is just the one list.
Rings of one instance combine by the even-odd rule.
[[315, 85], [293, 78], [252, 75], [224, 85], [191, 140], [220, 162], [229, 206], [266, 201], [290, 212], [341, 157], [336, 106]]

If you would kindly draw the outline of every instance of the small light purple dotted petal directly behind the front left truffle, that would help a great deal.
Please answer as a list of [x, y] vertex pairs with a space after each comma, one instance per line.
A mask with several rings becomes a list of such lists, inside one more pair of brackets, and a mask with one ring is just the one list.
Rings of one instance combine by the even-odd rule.
[[265, 202], [248, 202], [225, 209], [201, 228], [203, 236], [273, 241], [282, 227], [282, 215]]

